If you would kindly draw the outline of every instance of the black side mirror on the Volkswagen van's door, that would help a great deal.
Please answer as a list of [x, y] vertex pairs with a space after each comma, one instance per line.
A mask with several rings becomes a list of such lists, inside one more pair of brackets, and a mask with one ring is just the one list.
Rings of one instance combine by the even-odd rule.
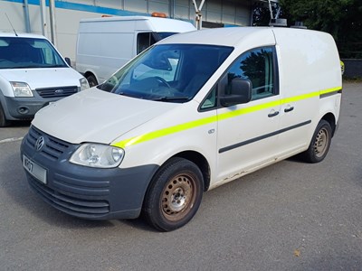
[[223, 107], [245, 104], [252, 99], [252, 82], [248, 79], [234, 78], [230, 90], [231, 94], [220, 97]]

